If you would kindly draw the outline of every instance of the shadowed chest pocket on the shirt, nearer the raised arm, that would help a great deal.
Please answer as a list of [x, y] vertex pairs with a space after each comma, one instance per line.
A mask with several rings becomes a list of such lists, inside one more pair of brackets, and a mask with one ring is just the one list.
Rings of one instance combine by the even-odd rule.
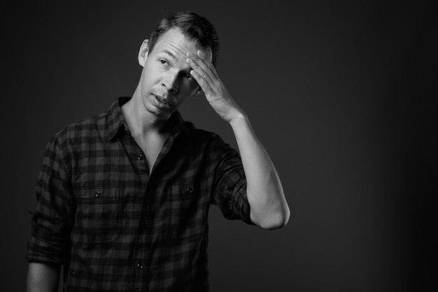
[[169, 219], [171, 237], [187, 238], [204, 232], [208, 212], [204, 188], [185, 184], [173, 186], [169, 192], [171, 198]]

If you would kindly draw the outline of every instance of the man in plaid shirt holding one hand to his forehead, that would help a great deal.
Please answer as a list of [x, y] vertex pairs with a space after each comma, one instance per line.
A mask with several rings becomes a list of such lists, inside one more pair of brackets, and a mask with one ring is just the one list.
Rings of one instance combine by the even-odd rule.
[[[139, 50], [132, 98], [48, 143], [27, 260], [29, 291], [208, 291], [207, 213], [274, 229], [290, 211], [245, 113], [216, 73], [218, 37], [191, 12], [164, 18]], [[240, 156], [178, 113], [204, 92]]]

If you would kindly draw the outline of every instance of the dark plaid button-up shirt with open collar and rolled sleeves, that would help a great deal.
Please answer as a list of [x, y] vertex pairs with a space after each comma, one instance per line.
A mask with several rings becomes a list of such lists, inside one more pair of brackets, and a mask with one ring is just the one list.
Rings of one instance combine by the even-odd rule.
[[65, 291], [208, 291], [210, 204], [251, 224], [239, 154], [176, 112], [150, 172], [128, 100], [48, 143], [27, 261], [66, 265]]

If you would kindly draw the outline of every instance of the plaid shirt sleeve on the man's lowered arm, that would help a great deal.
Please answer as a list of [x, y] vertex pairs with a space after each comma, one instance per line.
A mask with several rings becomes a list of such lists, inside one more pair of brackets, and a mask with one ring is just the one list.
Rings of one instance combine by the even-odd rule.
[[69, 262], [71, 183], [59, 142], [54, 136], [48, 143], [36, 182], [37, 205], [26, 255], [29, 262]]

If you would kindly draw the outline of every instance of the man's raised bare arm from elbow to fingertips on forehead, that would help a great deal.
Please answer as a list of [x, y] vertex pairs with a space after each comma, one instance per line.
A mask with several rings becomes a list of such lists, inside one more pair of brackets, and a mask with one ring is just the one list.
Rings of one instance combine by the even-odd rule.
[[201, 51], [198, 56], [188, 54], [188, 63], [193, 68], [190, 74], [201, 86], [211, 107], [232, 126], [246, 175], [251, 220], [265, 229], [284, 226], [288, 223], [290, 210], [283, 187], [248, 117], [227, 92], [209, 56]]

